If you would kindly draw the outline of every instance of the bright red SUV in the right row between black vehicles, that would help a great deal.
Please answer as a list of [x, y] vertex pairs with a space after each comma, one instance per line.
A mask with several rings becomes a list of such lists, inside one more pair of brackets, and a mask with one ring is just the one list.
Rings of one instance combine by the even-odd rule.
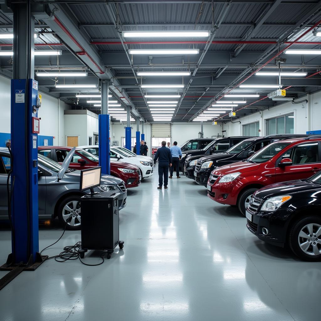
[[237, 205], [245, 215], [257, 189], [308, 178], [319, 171], [320, 151], [321, 139], [315, 136], [269, 144], [247, 160], [213, 170], [207, 182], [207, 195], [218, 203]]

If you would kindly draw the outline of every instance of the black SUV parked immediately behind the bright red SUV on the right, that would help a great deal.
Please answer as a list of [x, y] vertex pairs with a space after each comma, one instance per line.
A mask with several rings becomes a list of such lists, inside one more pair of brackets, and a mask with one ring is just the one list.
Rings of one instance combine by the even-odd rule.
[[187, 165], [186, 172], [188, 172], [188, 178], [194, 178], [197, 184], [206, 186], [213, 169], [245, 160], [261, 148], [278, 140], [304, 136], [308, 135], [279, 134], [246, 139], [224, 153], [199, 158], [195, 162], [195, 169], [194, 166]]

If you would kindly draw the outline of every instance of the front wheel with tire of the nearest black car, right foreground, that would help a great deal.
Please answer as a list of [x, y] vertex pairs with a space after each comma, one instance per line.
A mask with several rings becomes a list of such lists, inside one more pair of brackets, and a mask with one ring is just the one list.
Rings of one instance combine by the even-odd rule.
[[[310, 232], [312, 234], [308, 234]], [[288, 243], [292, 252], [302, 260], [321, 261], [321, 217], [307, 216], [296, 221], [291, 226]]]

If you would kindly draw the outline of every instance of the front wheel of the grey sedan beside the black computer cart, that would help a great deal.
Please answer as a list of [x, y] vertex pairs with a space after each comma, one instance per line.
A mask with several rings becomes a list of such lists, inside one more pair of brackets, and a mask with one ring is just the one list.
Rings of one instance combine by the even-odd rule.
[[62, 200], [58, 206], [58, 219], [63, 228], [66, 227], [67, 230], [80, 230], [81, 208], [79, 195], [68, 196]]

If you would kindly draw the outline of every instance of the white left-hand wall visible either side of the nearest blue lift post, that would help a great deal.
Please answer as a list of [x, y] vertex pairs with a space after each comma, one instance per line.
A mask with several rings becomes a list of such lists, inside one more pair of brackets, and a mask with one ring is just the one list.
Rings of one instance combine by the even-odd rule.
[[[40, 91], [39, 91], [40, 92]], [[54, 136], [53, 143], [65, 145], [64, 143], [64, 110], [69, 106], [57, 98], [40, 92], [42, 103], [39, 108], [40, 133], [39, 135]], [[10, 79], [0, 76], [0, 101], [1, 117], [0, 132], [10, 133], [11, 130], [11, 85]]]

